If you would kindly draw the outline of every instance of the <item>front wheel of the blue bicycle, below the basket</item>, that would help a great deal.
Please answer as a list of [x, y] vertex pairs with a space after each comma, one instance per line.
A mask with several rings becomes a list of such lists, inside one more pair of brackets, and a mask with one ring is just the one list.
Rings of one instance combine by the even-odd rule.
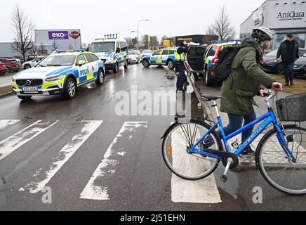
[[306, 195], [306, 129], [285, 126], [288, 148], [297, 162], [288, 157], [279, 143], [276, 129], [270, 131], [258, 145], [256, 164], [272, 187], [289, 195]]

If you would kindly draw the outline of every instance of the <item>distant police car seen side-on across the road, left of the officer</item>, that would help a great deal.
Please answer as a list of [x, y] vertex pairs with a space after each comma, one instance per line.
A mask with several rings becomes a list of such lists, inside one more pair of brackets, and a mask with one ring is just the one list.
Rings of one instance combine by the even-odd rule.
[[153, 53], [150, 56], [142, 58], [142, 65], [148, 68], [150, 65], [166, 65], [170, 70], [174, 68], [176, 49], [163, 49]]

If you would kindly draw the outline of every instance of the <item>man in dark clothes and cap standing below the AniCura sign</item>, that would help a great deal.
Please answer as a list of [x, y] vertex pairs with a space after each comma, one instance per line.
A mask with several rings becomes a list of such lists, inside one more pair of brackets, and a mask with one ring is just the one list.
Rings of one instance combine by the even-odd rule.
[[293, 85], [293, 73], [294, 62], [300, 58], [298, 53], [298, 42], [293, 39], [292, 34], [287, 34], [286, 41], [282, 42], [277, 51], [277, 60], [280, 58], [284, 65], [284, 74], [286, 86], [289, 86], [289, 82]]

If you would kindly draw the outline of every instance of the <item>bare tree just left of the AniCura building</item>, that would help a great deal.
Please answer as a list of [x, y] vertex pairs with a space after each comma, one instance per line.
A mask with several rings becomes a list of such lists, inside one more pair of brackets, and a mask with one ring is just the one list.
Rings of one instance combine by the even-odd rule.
[[236, 31], [230, 22], [230, 15], [227, 13], [225, 6], [220, 10], [218, 17], [212, 25], [213, 32], [219, 36], [220, 40], [234, 39]]

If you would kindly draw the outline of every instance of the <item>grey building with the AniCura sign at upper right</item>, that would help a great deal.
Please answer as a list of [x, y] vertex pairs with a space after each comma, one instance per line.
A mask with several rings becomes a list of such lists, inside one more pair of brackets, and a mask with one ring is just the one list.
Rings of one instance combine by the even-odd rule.
[[240, 25], [240, 38], [250, 37], [255, 27], [269, 27], [274, 32], [272, 49], [277, 49], [288, 33], [306, 49], [306, 1], [265, 1]]

